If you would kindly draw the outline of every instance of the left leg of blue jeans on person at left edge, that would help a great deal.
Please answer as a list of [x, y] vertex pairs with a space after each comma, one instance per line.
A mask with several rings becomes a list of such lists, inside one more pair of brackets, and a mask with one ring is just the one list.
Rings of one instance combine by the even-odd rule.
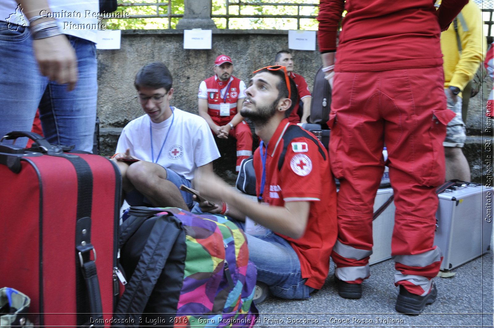
[[[1, 138], [11, 131], [31, 131], [48, 80], [39, 73], [27, 29], [11, 31], [0, 21], [0, 58]], [[19, 138], [15, 144], [24, 147], [27, 141]]]

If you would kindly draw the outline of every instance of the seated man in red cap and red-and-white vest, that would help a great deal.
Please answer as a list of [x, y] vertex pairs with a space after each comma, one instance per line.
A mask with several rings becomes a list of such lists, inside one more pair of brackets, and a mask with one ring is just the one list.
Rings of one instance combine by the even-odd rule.
[[237, 166], [252, 155], [252, 132], [237, 108], [245, 99], [246, 84], [232, 76], [233, 63], [227, 55], [219, 55], [214, 61], [215, 75], [199, 85], [199, 115], [218, 138], [237, 139]]

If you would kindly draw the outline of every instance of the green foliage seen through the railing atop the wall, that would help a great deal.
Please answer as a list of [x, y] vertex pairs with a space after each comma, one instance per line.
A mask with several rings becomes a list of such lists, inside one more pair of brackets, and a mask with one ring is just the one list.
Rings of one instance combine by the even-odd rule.
[[[165, 15], [168, 13], [167, 0], [155, 0], [160, 4], [158, 13]], [[193, 1], [193, 0], [191, 0]], [[304, 3], [298, 0], [244, 0], [247, 2], [257, 2], [259, 5], [230, 5], [230, 15], [296, 15], [297, 6], [266, 6], [263, 2], [276, 3]], [[132, 3], [151, 3], [153, 0], [135, 0]], [[230, 4], [234, 0], [230, 1]], [[317, 3], [317, 0], [307, 1]], [[211, 12], [213, 15], [226, 15], [226, 0], [212, 0]], [[170, 13], [172, 15], [184, 13], [184, 0], [171, 0]], [[129, 15], [156, 15], [157, 5], [152, 6], [119, 6], [116, 12], [128, 13]], [[299, 6], [299, 14], [304, 16], [317, 16], [319, 7]], [[180, 18], [170, 19], [170, 27], [175, 28]], [[215, 17], [214, 23], [219, 29], [226, 29], [226, 18]], [[107, 29], [128, 30], [128, 29], [167, 29], [168, 18], [115, 18], [103, 20]], [[318, 22], [316, 19], [300, 19], [301, 30], [317, 30]], [[272, 29], [272, 30], [296, 30], [296, 18], [230, 18], [228, 21], [229, 29]]]

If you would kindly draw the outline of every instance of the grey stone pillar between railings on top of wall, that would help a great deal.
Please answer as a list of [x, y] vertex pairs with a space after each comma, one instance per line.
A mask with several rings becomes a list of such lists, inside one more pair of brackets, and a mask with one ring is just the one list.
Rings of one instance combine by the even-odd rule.
[[177, 30], [215, 29], [211, 19], [211, 0], [184, 0], [184, 17], [178, 21]]

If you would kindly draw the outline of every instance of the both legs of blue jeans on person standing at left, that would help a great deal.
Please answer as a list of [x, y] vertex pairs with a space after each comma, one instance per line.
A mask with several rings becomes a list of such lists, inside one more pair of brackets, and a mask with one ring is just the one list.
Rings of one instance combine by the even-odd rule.
[[[40, 74], [28, 29], [11, 31], [0, 21], [0, 138], [10, 131], [31, 131], [40, 108], [43, 134], [49, 143], [92, 151], [98, 93], [96, 46], [67, 37], [76, 51], [79, 69], [72, 91]], [[21, 147], [26, 143], [26, 138], [15, 142]]]

